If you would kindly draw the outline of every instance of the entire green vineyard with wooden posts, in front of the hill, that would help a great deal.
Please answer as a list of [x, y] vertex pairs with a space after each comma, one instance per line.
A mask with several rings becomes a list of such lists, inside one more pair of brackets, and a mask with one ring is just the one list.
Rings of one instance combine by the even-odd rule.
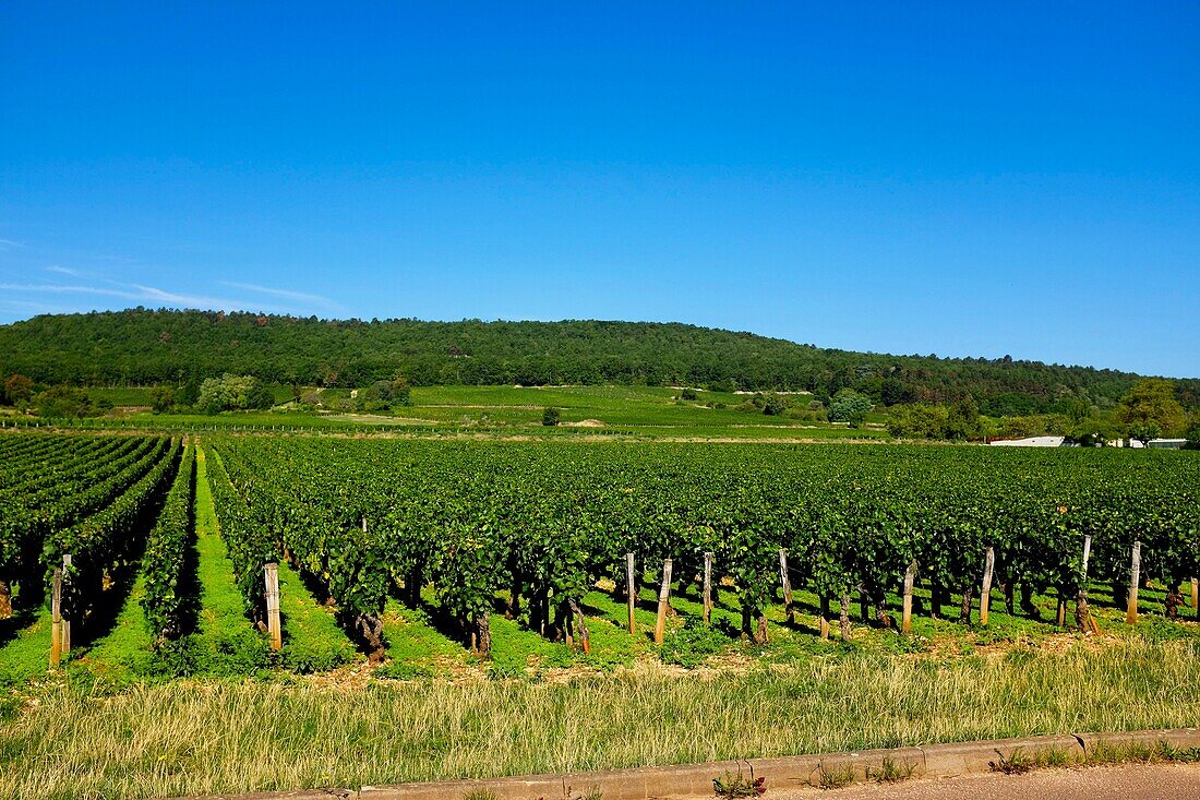
[[1190, 453], [23, 434], [0, 479], [0, 667], [38, 641], [42, 670], [126, 625], [168, 676], [407, 676], [497, 629], [601, 665], [680, 635], [902, 643], [984, 629], [992, 596], [1092, 633], [1139, 591], [1192, 616], [1200, 574]]

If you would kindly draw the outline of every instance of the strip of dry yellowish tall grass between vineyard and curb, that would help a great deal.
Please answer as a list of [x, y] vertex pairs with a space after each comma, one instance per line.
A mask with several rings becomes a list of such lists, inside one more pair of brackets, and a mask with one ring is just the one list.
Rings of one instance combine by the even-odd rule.
[[856, 653], [704, 679], [649, 665], [565, 683], [52, 686], [10, 702], [0, 796], [353, 788], [1195, 727], [1196, 674], [1194, 643], [1128, 639], [944, 661]]

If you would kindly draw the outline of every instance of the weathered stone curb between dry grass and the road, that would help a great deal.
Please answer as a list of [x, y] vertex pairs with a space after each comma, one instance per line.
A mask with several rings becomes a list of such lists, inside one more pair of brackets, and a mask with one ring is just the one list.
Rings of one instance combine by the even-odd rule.
[[911, 777], [953, 777], [988, 772], [992, 762], [1010, 759], [1020, 751], [1026, 757], [1055, 752], [1066, 760], [1078, 762], [1104, 748], [1129, 746], [1154, 748], [1165, 742], [1176, 748], [1200, 747], [1200, 729], [1139, 730], [1062, 736], [1026, 736], [996, 741], [952, 742], [924, 747], [896, 747], [846, 753], [794, 756], [787, 758], [751, 758], [742, 762], [710, 762], [678, 766], [647, 766], [601, 772], [528, 775], [520, 777], [365, 786], [349, 789], [310, 789], [304, 792], [253, 795], [209, 795], [194, 800], [463, 800], [469, 792], [484, 790], [497, 800], [570, 800], [599, 789], [604, 800], [655, 800], [660, 798], [710, 798], [713, 778], [726, 772], [767, 778], [768, 792], [821, 786], [822, 778], [845, 782], [870, 781], [871, 775], [890, 762]]

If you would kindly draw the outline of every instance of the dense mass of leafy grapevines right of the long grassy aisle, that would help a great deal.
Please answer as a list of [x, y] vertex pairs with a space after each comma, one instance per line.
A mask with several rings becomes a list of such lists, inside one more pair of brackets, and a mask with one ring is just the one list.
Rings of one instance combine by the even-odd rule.
[[648, 580], [673, 559], [684, 592], [714, 553], [755, 638], [775, 602], [780, 548], [796, 583], [844, 614], [857, 592], [883, 621], [913, 562], [932, 613], [952, 592], [970, 607], [988, 548], [1009, 602], [1018, 587], [1078, 597], [1085, 537], [1092, 577], [1115, 586], [1134, 541], [1172, 590], [1200, 572], [1190, 453], [260, 437], [216, 447], [238, 514], [270, 539], [245, 569], [260, 574], [268, 549], [287, 550], [358, 619], [376, 617], [392, 587], [412, 601], [431, 584], [481, 649], [497, 592], [535, 629], [569, 635], [598, 579], [624, 589], [625, 553]]

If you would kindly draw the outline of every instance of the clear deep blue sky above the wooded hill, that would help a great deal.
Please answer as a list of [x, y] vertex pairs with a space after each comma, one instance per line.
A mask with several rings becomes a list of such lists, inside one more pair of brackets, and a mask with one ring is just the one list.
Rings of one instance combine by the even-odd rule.
[[1200, 376], [1195, 4], [355, 5], [0, 4], [0, 322], [683, 321]]

